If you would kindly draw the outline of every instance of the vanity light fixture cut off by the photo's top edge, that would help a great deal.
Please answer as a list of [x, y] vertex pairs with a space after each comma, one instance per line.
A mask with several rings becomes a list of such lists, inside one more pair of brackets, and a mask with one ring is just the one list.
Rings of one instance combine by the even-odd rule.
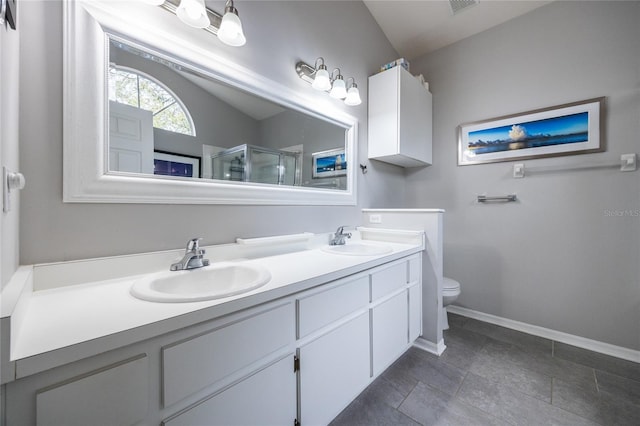
[[233, 0], [227, 0], [224, 16], [207, 8], [204, 0], [142, 0], [145, 3], [162, 6], [175, 13], [185, 24], [194, 28], [203, 28], [218, 36], [221, 42], [229, 46], [243, 46], [247, 38], [242, 31], [242, 22]]

